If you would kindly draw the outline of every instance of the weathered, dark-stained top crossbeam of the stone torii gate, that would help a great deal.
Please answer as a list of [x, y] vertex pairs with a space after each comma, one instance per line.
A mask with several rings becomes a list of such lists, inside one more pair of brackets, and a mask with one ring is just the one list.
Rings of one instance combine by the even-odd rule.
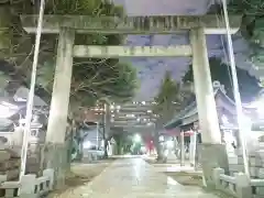
[[[241, 15], [230, 15], [230, 26], [235, 33]], [[21, 15], [24, 30], [35, 33], [37, 15]], [[76, 29], [77, 33], [100, 32], [105, 34], [173, 34], [195, 28], [204, 28], [206, 34], [227, 33], [224, 20], [217, 15], [167, 15], [167, 16], [99, 16], [45, 15], [43, 33], [58, 33], [59, 28]]]

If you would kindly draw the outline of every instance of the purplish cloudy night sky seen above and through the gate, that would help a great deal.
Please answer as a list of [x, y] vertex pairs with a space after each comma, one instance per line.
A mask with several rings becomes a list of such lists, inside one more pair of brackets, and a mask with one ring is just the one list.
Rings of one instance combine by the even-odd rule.
[[[187, 15], [206, 13], [209, 2], [213, 0], [114, 0], [122, 4], [128, 15]], [[175, 45], [188, 44], [187, 35], [128, 35], [128, 45]], [[227, 61], [227, 40], [224, 35], [208, 35], [207, 45], [209, 56], [221, 57]], [[250, 74], [256, 75], [254, 67], [246, 61], [249, 54], [246, 42], [238, 35], [233, 36], [233, 46], [237, 65], [246, 68]], [[125, 59], [128, 62], [128, 59]], [[176, 80], [188, 68], [190, 58], [131, 58], [132, 65], [136, 67], [141, 88], [136, 94], [135, 100], [151, 100], [157, 92], [161, 80], [166, 70], [170, 70]]]

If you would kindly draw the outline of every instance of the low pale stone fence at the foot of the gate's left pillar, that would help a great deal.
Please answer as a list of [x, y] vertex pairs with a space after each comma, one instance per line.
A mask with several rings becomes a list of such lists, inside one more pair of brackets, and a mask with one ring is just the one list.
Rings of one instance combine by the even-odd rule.
[[54, 170], [45, 169], [43, 176], [24, 175], [20, 182], [0, 180], [0, 198], [38, 198], [53, 189]]

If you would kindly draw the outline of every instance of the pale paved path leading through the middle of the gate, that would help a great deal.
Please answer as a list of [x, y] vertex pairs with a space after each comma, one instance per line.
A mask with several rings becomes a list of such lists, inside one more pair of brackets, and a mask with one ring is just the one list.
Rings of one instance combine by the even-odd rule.
[[76, 188], [73, 198], [217, 198], [198, 187], [182, 186], [142, 158], [117, 160], [98, 177]]

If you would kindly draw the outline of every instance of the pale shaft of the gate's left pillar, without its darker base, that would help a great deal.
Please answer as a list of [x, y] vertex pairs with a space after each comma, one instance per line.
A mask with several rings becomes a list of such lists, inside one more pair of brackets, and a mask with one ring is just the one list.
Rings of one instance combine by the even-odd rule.
[[53, 96], [46, 133], [46, 142], [50, 143], [64, 144], [65, 142], [73, 73], [74, 40], [74, 30], [66, 28], [61, 30], [58, 36]]

